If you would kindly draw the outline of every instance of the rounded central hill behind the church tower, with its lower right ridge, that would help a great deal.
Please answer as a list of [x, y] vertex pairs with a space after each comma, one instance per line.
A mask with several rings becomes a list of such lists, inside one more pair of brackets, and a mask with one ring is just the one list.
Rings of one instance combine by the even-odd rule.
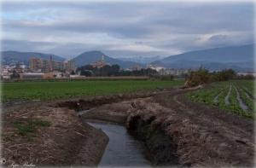
[[86, 64], [90, 64], [91, 62], [99, 61], [102, 59], [102, 55], [104, 55], [104, 60], [113, 65], [113, 64], [118, 64], [122, 68], [129, 68], [134, 65], [139, 65], [141, 67], [144, 67], [143, 64], [133, 62], [133, 61], [121, 61], [118, 59], [114, 59], [112, 57], [109, 57], [108, 55], [103, 54], [101, 51], [89, 51], [89, 52], [84, 52], [81, 55], [76, 56], [73, 58], [73, 61], [75, 61], [75, 64], [77, 67], [84, 66]]

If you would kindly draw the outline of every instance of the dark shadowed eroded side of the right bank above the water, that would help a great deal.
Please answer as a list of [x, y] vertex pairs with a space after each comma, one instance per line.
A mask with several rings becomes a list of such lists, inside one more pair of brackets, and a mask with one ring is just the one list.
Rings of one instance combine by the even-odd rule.
[[154, 120], [154, 115], [143, 117], [137, 113], [129, 116], [126, 127], [131, 135], [145, 142], [150, 152], [149, 158], [154, 165], [179, 165], [177, 145]]

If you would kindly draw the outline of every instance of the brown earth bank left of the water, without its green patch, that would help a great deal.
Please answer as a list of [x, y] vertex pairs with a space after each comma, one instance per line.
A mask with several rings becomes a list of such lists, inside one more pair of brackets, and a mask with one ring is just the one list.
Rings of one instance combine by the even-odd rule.
[[[3, 113], [2, 157], [5, 165], [91, 165], [100, 161], [108, 143], [101, 130], [87, 125], [73, 110], [41, 104], [6, 109]], [[50, 123], [20, 136], [15, 121], [41, 119]]]

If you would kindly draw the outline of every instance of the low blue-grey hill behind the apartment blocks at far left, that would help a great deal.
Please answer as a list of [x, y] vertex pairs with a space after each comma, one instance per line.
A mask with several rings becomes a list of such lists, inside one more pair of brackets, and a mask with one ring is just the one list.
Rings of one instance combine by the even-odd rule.
[[[49, 54], [36, 53], [36, 52], [18, 52], [18, 51], [2, 51], [2, 64], [10, 64], [23, 62], [25, 65], [29, 64], [29, 59], [31, 57], [38, 57], [45, 60], [49, 59]], [[54, 61], [64, 61], [65, 59], [58, 55], [52, 55]]]

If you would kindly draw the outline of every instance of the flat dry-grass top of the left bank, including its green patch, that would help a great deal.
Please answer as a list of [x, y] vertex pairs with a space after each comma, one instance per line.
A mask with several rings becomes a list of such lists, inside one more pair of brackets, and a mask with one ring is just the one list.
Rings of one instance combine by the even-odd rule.
[[61, 108], [30, 107], [4, 113], [2, 145], [6, 165], [66, 164], [71, 161], [65, 159], [66, 145], [86, 135], [79, 123], [75, 113]]

